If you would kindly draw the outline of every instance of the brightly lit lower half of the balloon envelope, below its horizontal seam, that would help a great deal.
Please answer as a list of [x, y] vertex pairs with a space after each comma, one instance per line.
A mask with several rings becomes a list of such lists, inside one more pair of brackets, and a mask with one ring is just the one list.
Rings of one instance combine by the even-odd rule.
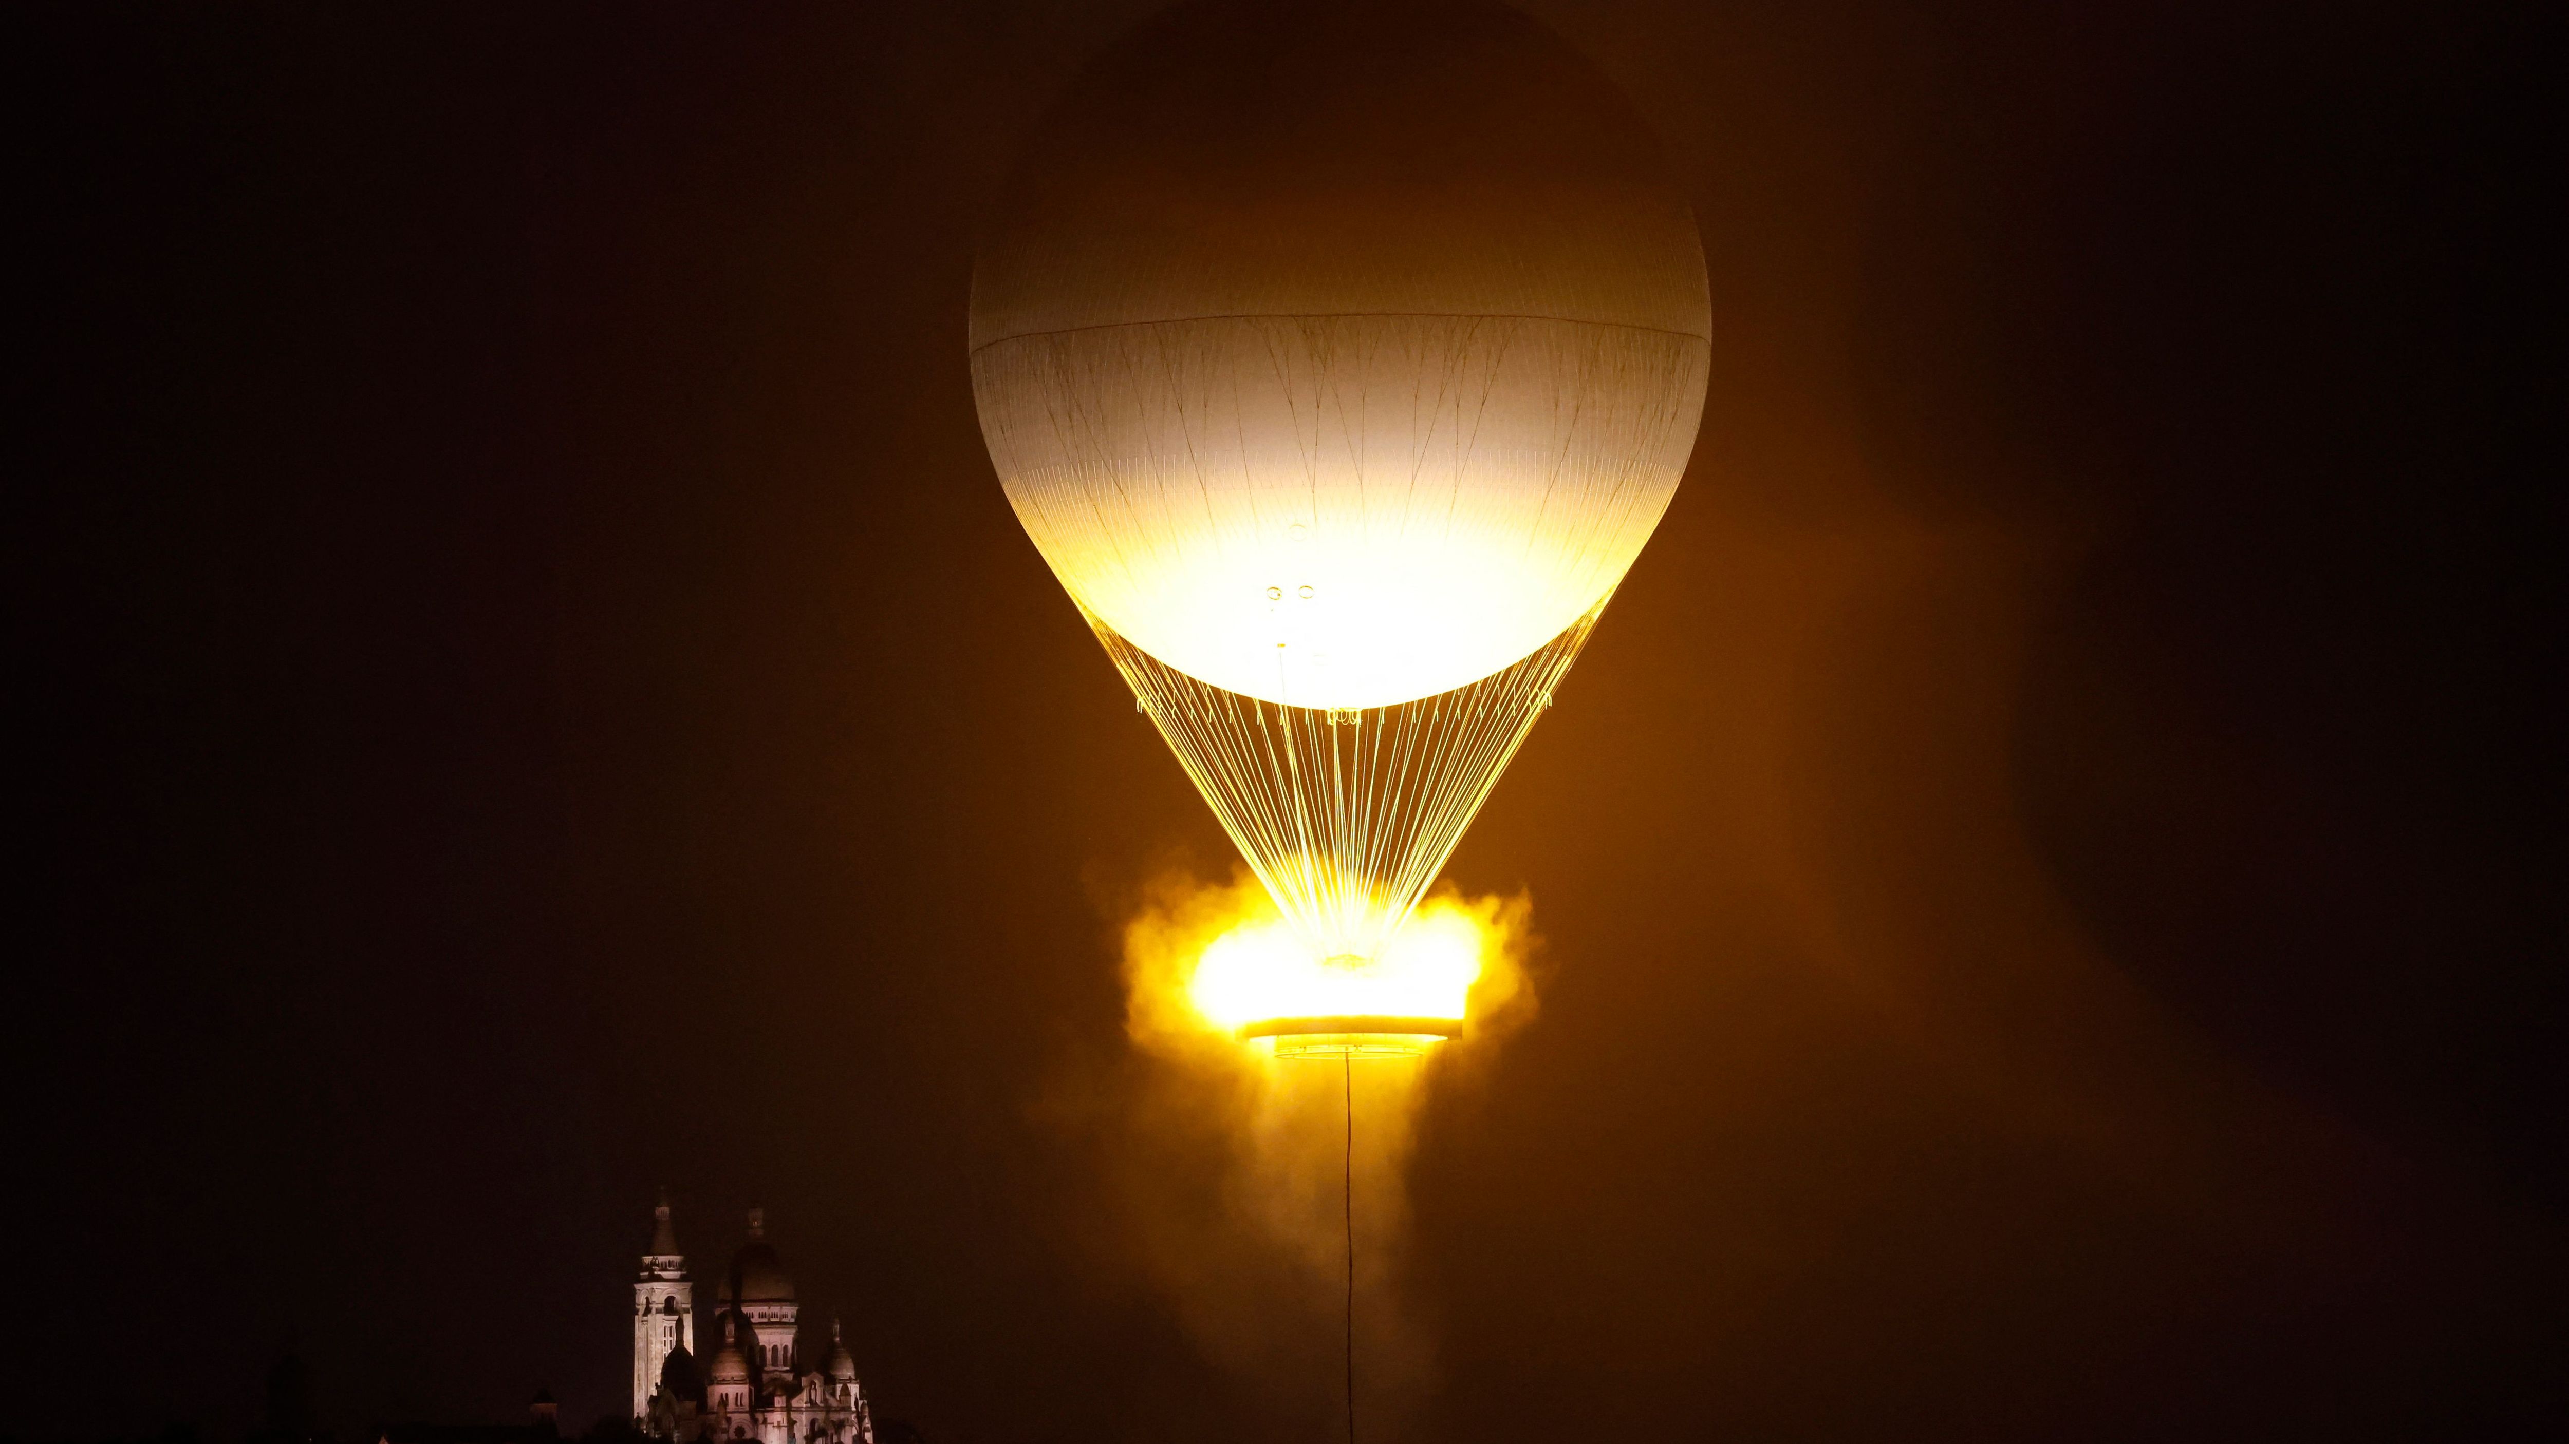
[[1703, 339], [1210, 316], [1010, 337], [976, 378], [1007, 498], [1092, 617], [1228, 691], [1392, 707], [1613, 591], [1678, 491]]

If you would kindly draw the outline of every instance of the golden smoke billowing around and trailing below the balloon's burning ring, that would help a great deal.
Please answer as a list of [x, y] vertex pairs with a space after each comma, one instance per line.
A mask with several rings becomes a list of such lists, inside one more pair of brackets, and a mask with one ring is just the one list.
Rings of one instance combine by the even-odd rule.
[[1166, 868], [1123, 912], [1130, 1051], [1066, 1115], [1102, 1159], [1097, 1244], [1277, 1436], [1336, 1429], [1349, 1352], [1362, 1431], [1403, 1434], [1436, 1380], [1405, 1290], [1421, 1105], [1469, 1087], [1534, 1017], [1531, 899], [1446, 886], [1421, 907], [1421, 925], [1467, 922], [1482, 969], [1467, 1035], [1416, 1059], [1279, 1059], [1192, 1005], [1210, 943], [1279, 922], [1246, 868]]

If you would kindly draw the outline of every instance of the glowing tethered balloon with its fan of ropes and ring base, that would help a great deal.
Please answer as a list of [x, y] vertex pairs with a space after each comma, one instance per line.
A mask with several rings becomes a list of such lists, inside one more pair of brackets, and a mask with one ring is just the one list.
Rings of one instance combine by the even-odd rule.
[[1513, 10], [1182, 5], [1035, 128], [974, 272], [992, 462], [1313, 956], [1385, 948], [1554, 701], [1708, 321], [1654, 144]]

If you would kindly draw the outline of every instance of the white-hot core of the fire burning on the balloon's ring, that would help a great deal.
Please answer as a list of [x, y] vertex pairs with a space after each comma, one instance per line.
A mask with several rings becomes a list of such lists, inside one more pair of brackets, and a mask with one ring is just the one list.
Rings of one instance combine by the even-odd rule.
[[1241, 922], [1205, 948], [1187, 1002], [1223, 1030], [1277, 1017], [1439, 1017], [1462, 1023], [1482, 971], [1480, 920], [1428, 904], [1372, 958], [1315, 958], [1277, 922]]

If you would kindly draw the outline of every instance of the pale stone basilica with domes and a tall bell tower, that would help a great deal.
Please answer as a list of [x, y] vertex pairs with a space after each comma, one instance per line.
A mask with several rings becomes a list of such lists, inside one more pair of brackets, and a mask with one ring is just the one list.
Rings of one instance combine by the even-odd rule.
[[663, 1197], [635, 1280], [635, 1423], [673, 1444], [873, 1444], [873, 1411], [837, 1321], [820, 1367], [804, 1367], [799, 1328], [794, 1280], [768, 1244], [766, 1210], [753, 1208], [750, 1238], [714, 1298], [719, 1344], [699, 1367], [696, 1287]]

